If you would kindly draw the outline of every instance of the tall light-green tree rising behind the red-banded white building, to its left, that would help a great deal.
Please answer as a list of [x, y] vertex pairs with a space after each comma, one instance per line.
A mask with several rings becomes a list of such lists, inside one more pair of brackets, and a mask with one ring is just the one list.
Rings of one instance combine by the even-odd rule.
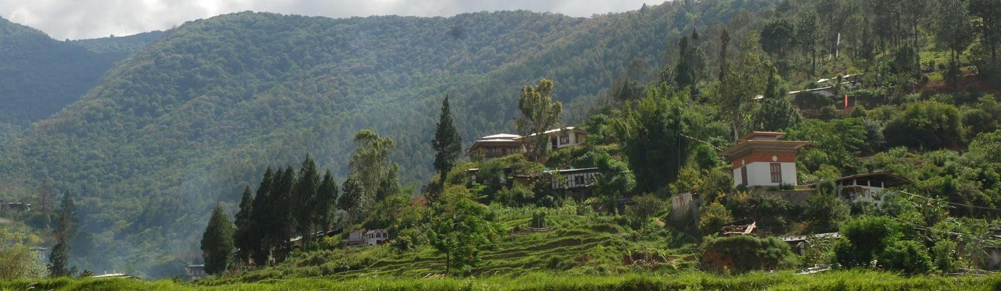
[[762, 57], [758, 34], [748, 33], [737, 61], [720, 82], [717, 95], [721, 114], [728, 117], [733, 126], [734, 141], [740, 137], [741, 128], [749, 117], [747, 106], [752, 98], [765, 91], [770, 66]]

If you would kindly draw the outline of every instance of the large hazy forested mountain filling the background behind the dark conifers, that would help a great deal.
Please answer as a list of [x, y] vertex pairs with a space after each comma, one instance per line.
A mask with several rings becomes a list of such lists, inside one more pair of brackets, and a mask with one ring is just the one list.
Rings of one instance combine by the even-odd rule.
[[675, 55], [665, 51], [677, 36], [725, 23], [741, 35], [773, 4], [679, 1], [591, 18], [242, 12], [191, 21], [0, 146], [0, 195], [30, 197], [51, 178], [78, 197], [81, 227], [94, 233], [101, 255], [88, 264], [135, 267], [197, 249], [208, 209], [216, 201], [233, 209], [267, 165], [308, 152], [342, 177], [351, 136], [370, 128], [397, 141], [404, 182], [425, 179], [445, 94], [464, 145], [513, 131], [521, 86], [543, 77], [576, 121], [634, 60], [646, 60], [635, 71], [651, 79], [674, 63], [664, 56]]

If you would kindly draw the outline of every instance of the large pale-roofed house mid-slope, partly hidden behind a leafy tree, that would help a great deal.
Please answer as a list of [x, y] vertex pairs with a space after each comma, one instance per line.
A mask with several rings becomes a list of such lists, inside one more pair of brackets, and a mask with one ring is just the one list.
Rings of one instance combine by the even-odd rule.
[[[565, 127], [552, 129], [544, 134], [550, 137], [552, 149], [562, 149], [566, 147], [579, 146], [584, 144], [588, 137], [588, 132], [577, 127]], [[525, 152], [525, 141], [535, 134], [520, 136], [517, 134], [500, 133], [487, 135], [479, 138], [465, 149], [465, 155], [469, 157], [479, 156], [484, 160], [499, 158], [510, 154]]]

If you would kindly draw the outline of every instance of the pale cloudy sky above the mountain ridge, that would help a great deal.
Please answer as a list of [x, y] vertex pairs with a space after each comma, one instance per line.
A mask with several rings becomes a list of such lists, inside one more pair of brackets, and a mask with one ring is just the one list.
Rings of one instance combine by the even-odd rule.
[[528, 9], [591, 16], [637, 10], [665, 0], [0, 0], [0, 17], [54, 39], [124, 36], [166, 30], [188, 20], [239, 11], [307, 16], [452, 16]]

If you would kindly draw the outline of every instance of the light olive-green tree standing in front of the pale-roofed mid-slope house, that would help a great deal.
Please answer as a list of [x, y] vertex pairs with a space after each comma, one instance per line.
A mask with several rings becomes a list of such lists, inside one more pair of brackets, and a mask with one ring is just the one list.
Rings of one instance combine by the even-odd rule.
[[553, 101], [553, 80], [542, 79], [536, 86], [522, 87], [518, 99], [520, 117], [515, 120], [518, 133], [525, 136], [525, 147], [532, 161], [541, 161], [549, 151], [546, 132], [560, 124], [563, 103]]

